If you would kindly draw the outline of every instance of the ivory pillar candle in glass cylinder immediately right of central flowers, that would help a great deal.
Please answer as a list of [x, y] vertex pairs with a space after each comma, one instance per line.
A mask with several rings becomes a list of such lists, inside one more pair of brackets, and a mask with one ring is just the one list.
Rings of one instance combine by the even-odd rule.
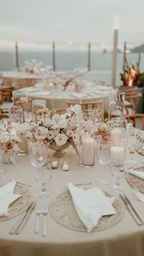
[[93, 166], [95, 162], [95, 140], [90, 137], [82, 139], [82, 164]]

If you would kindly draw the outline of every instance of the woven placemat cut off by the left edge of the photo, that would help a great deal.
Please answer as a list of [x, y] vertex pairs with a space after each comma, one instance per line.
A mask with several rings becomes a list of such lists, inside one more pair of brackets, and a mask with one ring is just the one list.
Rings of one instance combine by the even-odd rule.
[[9, 205], [9, 215], [0, 216], [0, 221], [7, 221], [8, 219], [15, 218], [26, 211], [27, 207], [29, 207], [29, 204], [31, 203], [31, 196], [29, 190], [25, 186], [16, 183], [14, 194], [20, 194], [21, 197]]

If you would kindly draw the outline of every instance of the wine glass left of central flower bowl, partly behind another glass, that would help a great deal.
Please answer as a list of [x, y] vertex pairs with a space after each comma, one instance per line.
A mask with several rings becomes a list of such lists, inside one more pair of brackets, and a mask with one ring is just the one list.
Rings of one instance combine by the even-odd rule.
[[[40, 167], [44, 166], [46, 163], [46, 150], [45, 145], [43, 144], [37, 144], [34, 142], [29, 142], [29, 158], [31, 161], [31, 164], [35, 167], [37, 167], [37, 171], [40, 170]], [[37, 178], [35, 178], [37, 181]], [[33, 184], [34, 187], [37, 188], [37, 183]]]

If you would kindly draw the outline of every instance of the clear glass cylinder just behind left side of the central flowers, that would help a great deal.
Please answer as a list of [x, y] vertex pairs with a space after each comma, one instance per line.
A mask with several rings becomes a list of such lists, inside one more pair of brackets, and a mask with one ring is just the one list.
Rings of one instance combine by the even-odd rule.
[[[46, 100], [32, 101], [32, 120], [33, 121], [36, 121], [38, 119], [37, 111], [43, 108], [46, 108]], [[39, 116], [39, 119], [40, 119], [40, 116]]]

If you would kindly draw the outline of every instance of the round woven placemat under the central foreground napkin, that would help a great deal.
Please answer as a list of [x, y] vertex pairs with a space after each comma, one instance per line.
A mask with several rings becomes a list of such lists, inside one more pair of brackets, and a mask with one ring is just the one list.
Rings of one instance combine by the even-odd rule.
[[[104, 192], [106, 196], [112, 196]], [[116, 214], [103, 216], [99, 219], [98, 225], [93, 229], [93, 232], [109, 229], [113, 225], [117, 224], [123, 217], [124, 208], [118, 199], [115, 199], [113, 203]], [[60, 225], [67, 227], [67, 229], [73, 229], [81, 232], [87, 232], [85, 225], [79, 219], [76, 209], [73, 204], [70, 192], [67, 190], [52, 200], [49, 205], [49, 212], [52, 219]]]

